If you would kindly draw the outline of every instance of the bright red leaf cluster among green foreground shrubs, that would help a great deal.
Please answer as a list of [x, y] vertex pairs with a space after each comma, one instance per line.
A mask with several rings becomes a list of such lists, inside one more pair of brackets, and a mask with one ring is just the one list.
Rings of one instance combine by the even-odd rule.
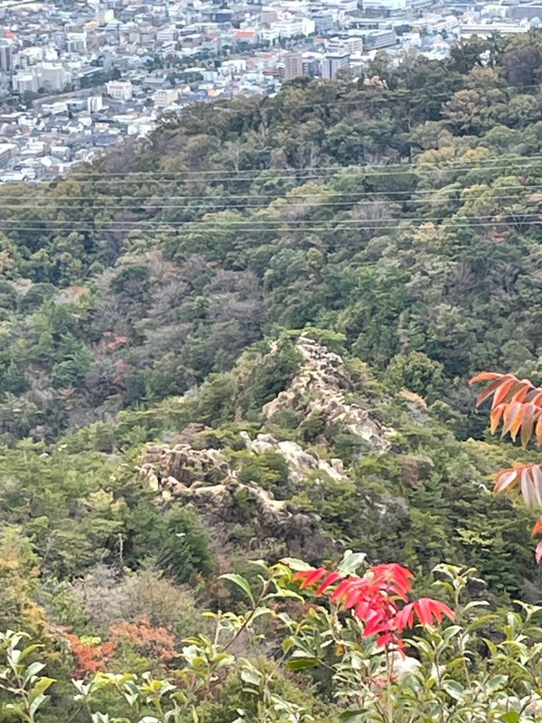
[[379, 646], [393, 643], [402, 650], [404, 643], [400, 634], [413, 627], [416, 619], [419, 624], [431, 625], [434, 619], [442, 623], [444, 615], [450, 620], [454, 618], [447, 605], [431, 597], [410, 602], [408, 594], [413, 577], [410, 570], [394, 562], [369, 568], [363, 577], [317, 568], [295, 573], [294, 580], [301, 580], [302, 588], [320, 583], [315, 595], [325, 593], [332, 603], [352, 610], [363, 623], [364, 637], [378, 635]]

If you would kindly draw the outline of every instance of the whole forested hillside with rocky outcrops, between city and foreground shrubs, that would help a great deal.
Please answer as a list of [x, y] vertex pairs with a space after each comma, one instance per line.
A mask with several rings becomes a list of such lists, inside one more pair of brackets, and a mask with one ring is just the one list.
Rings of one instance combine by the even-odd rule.
[[[42, 641], [59, 679], [36, 720], [107, 720], [70, 675], [184, 680], [182, 640], [219, 644], [199, 613], [243, 606], [220, 574], [257, 585], [285, 557], [357, 550], [418, 595], [446, 562], [497, 611], [540, 602], [537, 515], [491, 494], [537, 452], [487, 434], [468, 380], [542, 382], [541, 75], [539, 31], [382, 54], [360, 80], [193, 106], [65, 180], [0, 187], [0, 630]], [[260, 678], [209, 663], [190, 710], [148, 722], [233, 723], [280, 657], [253, 622], [220, 661], [247, 649]], [[283, 718], [239, 719], [339, 720], [328, 663], [310, 685], [280, 673]], [[103, 695], [111, 721], [145, 719]], [[440, 720], [531, 719], [480, 715]]]

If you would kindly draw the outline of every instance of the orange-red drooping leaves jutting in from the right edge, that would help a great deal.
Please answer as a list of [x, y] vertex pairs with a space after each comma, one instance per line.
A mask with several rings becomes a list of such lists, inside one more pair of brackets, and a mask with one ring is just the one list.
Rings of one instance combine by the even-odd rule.
[[[542, 389], [528, 379], [519, 380], [513, 374], [483, 371], [472, 377], [471, 384], [487, 381], [489, 384], [478, 395], [476, 407], [491, 399], [491, 434], [501, 425], [500, 437], [507, 434], [515, 441], [519, 435], [521, 445], [527, 447], [531, 439], [542, 446]], [[528, 507], [542, 507], [542, 465], [514, 465], [501, 469], [495, 477], [495, 492], [519, 490]], [[542, 532], [542, 517], [534, 526], [532, 535]], [[542, 540], [535, 551], [537, 563], [542, 560]]]

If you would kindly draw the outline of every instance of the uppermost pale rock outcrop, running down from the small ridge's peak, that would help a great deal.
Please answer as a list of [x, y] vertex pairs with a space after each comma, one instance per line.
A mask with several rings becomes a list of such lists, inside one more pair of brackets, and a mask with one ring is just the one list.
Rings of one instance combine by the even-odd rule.
[[341, 387], [346, 385], [347, 379], [342, 357], [329, 352], [325, 346], [305, 334], [299, 337], [296, 345], [304, 357], [304, 364], [290, 387], [281, 391], [263, 408], [266, 420], [273, 421], [281, 409], [295, 409], [305, 417], [312, 412], [319, 412], [328, 424], [337, 424], [361, 437], [375, 450], [387, 451], [391, 446], [388, 437], [393, 434], [393, 430], [383, 427], [370, 416], [367, 409], [348, 404], [344, 399]]

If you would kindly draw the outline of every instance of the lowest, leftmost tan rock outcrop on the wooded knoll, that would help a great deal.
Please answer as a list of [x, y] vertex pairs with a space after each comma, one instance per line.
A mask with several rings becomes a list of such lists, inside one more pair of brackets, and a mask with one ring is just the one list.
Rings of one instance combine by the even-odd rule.
[[217, 449], [150, 446], [140, 471], [154, 489], [163, 488], [164, 501], [192, 503], [220, 549], [233, 547], [247, 533], [249, 549], [272, 557], [288, 552], [310, 562], [321, 559], [332, 547], [316, 515], [295, 512], [257, 484], [240, 483]]

